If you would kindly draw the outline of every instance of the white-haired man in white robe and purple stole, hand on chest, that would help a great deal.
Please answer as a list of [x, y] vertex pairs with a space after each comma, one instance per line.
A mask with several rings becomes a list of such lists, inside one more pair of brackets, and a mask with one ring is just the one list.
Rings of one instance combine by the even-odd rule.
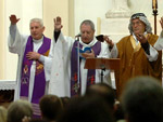
[[43, 36], [42, 19], [33, 18], [29, 23], [30, 36], [18, 32], [20, 18], [10, 16], [9, 51], [18, 55], [17, 79], [14, 99], [32, 103], [34, 116], [39, 117], [39, 99], [46, 94], [50, 79], [53, 44]]

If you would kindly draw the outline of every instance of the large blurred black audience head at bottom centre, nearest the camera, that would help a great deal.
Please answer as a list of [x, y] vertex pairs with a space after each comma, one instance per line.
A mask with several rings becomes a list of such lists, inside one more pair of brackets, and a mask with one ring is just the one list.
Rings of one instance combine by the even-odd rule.
[[73, 97], [58, 122], [113, 122], [110, 108], [98, 97]]

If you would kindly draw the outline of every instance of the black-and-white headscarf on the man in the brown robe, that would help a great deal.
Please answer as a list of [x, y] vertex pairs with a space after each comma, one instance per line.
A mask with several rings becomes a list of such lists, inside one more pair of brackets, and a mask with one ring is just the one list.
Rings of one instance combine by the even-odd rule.
[[133, 35], [133, 27], [131, 27], [133, 23], [131, 23], [131, 21], [135, 18], [139, 18], [146, 25], [146, 31], [148, 33], [152, 33], [152, 27], [151, 27], [151, 24], [149, 23], [149, 21], [147, 19], [147, 17], [146, 16], [135, 16], [135, 17], [130, 17], [129, 25], [128, 25], [128, 29], [129, 29], [130, 35]]

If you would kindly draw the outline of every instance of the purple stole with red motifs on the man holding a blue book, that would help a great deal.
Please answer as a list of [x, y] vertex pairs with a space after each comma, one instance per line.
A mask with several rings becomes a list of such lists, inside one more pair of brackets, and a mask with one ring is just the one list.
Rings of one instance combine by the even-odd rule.
[[[77, 71], [78, 71], [78, 67], [77, 67], [77, 41], [74, 42], [73, 44], [73, 49], [72, 49], [72, 55], [71, 55], [71, 96], [76, 96], [76, 95], [80, 95], [80, 74], [79, 74], [79, 87], [77, 84]], [[79, 48], [83, 49], [83, 45], [79, 44]], [[95, 56], [99, 55], [101, 52], [101, 42], [97, 42], [93, 46], [91, 46], [91, 50], [93, 50], [95, 52]], [[79, 59], [80, 63], [82, 58]], [[80, 68], [80, 67], [79, 67]], [[79, 69], [80, 70], [80, 69]], [[96, 70], [95, 69], [88, 69], [88, 73], [87, 73], [87, 86], [89, 86], [90, 84], [95, 84], [95, 80], [96, 80]]]

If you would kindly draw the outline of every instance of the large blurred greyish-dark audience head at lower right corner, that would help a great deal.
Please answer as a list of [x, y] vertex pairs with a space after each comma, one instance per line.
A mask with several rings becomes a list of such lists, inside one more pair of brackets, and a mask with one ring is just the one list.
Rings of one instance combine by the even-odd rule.
[[137, 77], [129, 80], [121, 99], [129, 122], [163, 121], [163, 89], [156, 79]]

